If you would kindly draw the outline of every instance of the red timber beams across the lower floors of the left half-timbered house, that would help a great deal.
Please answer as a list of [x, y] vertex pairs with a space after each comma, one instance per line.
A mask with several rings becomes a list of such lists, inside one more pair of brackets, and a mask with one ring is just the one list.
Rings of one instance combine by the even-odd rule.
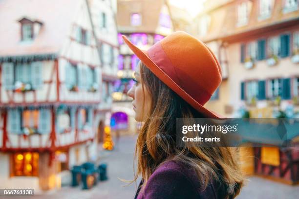
[[[7, 97], [9, 99], [8, 103], [3, 103], [2, 102], [2, 96], [1, 96], [1, 92], [0, 92], [0, 107], [1, 108], [1, 118], [3, 118], [3, 126], [2, 126], [2, 132], [3, 132], [3, 138], [2, 138], [2, 147], [0, 148], [0, 152], [23, 152], [23, 151], [29, 151], [29, 152], [48, 152], [50, 153], [50, 161], [49, 164], [52, 164], [52, 159], [54, 158], [54, 154], [55, 151], [57, 150], [67, 150], [69, 147], [72, 147], [74, 145], [79, 145], [79, 144], [83, 144], [85, 142], [88, 141], [93, 141], [94, 138], [90, 138], [90, 139], [86, 139], [86, 140], [82, 140], [79, 141], [78, 137], [79, 137], [79, 131], [78, 131], [78, 110], [76, 111], [76, 121], [75, 121], [75, 142], [72, 144], [68, 144], [68, 145], [63, 145], [63, 146], [56, 146], [56, 140], [57, 140], [57, 136], [56, 136], [56, 132], [55, 132], [55, 114], [56, 114], [56, 106], [60, 105], [60, 104], [67, 104], [67, 105], [95, 105], [98, 104], [100, 101], [89, 101], [89, 102], [73, 102], [73, 101], [61, 101], [60, 100], [60, 88], [61, 88], [61, 84], [62, 82], [59, 79], [59, 65], [58, 65], [58, 59], [54, 60], [54, 64], [52, 67], [52, 71], [51, 71], [51, 78], [50, 80], [45, 80], [43, 81], [44, 84], [47, 84], [47, 90], [46, 90], [46, 100], [45, 101], [37, 101], [36, 99], [36, 91], [26, 91], [26, 92], [33, 92], [34, 95], [34, 101], [33, 102], [26, 102], [25, 99], [25, 94], [22, 93], [22, 102], [14, 102], [14, 96], [15, 96], [15, 91], [6, 91]], [[1, 65], [1, 64], [0, 64]], [[0, 91], [2, 89], [2, 85], [1, 85], [1, 67], [0, 67]], [[55, 101], [50, 101], [49, 97], [50, 97], [50, 90], [51, 87], [54, 86], [53, 82], [54, 82], [54, 77], [56, 77], [57, 80], [57, 84], [56, 84], [56, 94], [57, 94], [57, 99]], [[15, 148], [10, 148], [8, 147], [8, 145], [10, 144], [10, 140], [9, 137], [7, 135], [7, 118], [8, 118], [8, 114], [7, 114], [7, 108], [6, 107], [16, 107], [16, 106], [40, 106], [40, 105], [47, 105], [50, 107], [51, 109], [51, 132], [49, 134], [49, 139], [47, 140], [48, 143], [50, 142], [50, 144], [48, 144], [48, 147], [31, 147], [31, 139], [30, 136], [26, 137], [28, 139], [28, 143], [29, 143], [29, 147], [27, 148], [22, 148], [21, 147], [21, 137], [23, 135], [19, 135], [18, 136], [18, 147]], [[40, 145], [42, 145], [42, 135], [39, 135], [39, 142]]]

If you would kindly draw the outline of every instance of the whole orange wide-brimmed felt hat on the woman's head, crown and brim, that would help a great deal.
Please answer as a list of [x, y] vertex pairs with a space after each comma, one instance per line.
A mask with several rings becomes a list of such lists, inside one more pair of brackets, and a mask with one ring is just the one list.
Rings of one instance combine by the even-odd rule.
[[174, 32], [147, 51], [123, 40], [149, 70], [207, 118], [223, 119], [204, 104], [222, 81], [221, 68], [206, 44], [188, 33]]

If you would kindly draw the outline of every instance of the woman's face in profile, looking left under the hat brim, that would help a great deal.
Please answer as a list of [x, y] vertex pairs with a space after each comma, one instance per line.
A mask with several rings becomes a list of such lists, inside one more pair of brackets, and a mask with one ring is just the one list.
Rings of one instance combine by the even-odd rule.
[[132, 105], [136, 121], [144, 121], [149, 114], [150, 95], [147, 87], [142, 89], [140, 64], [135, 71], [135, 84], [128, 90], [128, 96], [133, 98]]

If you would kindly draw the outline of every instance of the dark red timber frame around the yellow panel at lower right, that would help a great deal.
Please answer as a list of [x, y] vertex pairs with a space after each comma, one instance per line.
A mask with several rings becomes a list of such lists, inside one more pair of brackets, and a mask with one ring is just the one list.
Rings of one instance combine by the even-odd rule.
[[255, 174], [287, 184], [299, 183], [299, 151], [293, 148], [279, 149], [279, 165], [261, 162], [261, 148], [254, 148]]

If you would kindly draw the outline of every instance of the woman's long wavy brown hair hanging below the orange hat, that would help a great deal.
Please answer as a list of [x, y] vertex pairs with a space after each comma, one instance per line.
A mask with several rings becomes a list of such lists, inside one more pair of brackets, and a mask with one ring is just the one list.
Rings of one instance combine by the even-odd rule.
[[[200, 147], [186, 142], [176, 144], [176, 118], [205, 118], [185, 100], [174, 93], [140, 62], [142, 89], [151, 97], [148, 117], [140, 130], [135, 149], [137, 173], [145, 187], [154, 170], [167, 160], [176, 160], [195, 169], [205, 189], [212, 179], [227, 188], [227, 198], [235, 198], [243, 185], [243, 176], [236, 159], [236, 148]], [[144, 92], [143, 92], [144, 93]], [[133, 181], [134, 181], [133, 180]]]

